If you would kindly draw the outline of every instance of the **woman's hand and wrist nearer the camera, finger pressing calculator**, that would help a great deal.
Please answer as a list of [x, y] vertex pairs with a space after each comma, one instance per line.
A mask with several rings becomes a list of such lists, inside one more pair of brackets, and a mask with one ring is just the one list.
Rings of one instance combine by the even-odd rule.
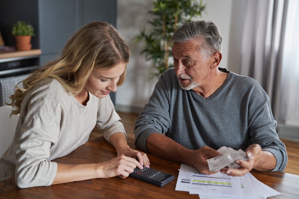
[[110, 178], [114, 176], [126, 178], [134, 171], [136, 166], [139, 169], [143, 169], [135, 158], [120, 155], [112, 160], [97, 164], [97, 178]]

